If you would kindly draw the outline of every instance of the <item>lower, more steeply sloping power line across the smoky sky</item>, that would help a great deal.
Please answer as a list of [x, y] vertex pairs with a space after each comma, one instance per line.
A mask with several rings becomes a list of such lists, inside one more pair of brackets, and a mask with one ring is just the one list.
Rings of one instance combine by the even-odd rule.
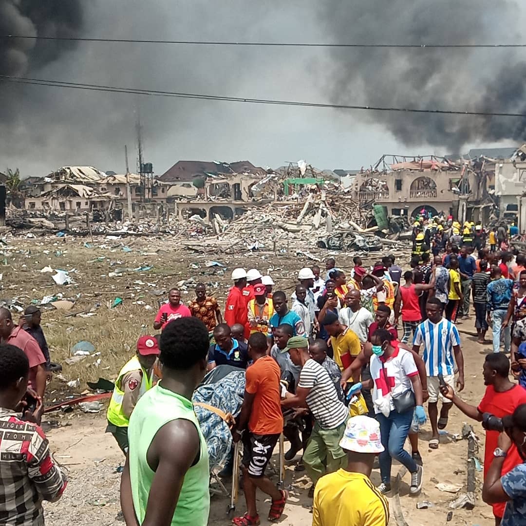
[[417, 108], [396, 108], [382, 106], [358, 106], [350, 104], [329, 104], [329, 103], [312, 103], [300, 102], [297, 100], [277, 100], [277, 99], [257, 99], [249, 97], [230, 97], [226, 95], [206, 95], [202, 93], [183, 93], [183, 92], [166, 92], [154, 89], [126, 88], [118, 86], [104, 86], [100, 84], [82, 84], [76, 82], [64, 82], [60, 80], [48, 80], [41, 78], [11, 77], [0, 75], [0, 79], [6, 82], [15, 82], [19, 84], [32, 84], [35, 86], [51, 86], [70, 89], [83, 89], [96, 92], [108, 93], [130, 93], [136, 95], [149, 95], [157, 97], [177, 97], [200, 100], [222, 100], [225, 102], [241, 102], [250, 104], [267, 104], [278, 106], [301, 106], [311, 108], [335, 108], [335, 109], [352, 109], [352, 110], [369, 110], [374, 112], [401, 112], [401, 113], [426, 113], [436, 115], [469, 115], [483, 117], [526, 117], [523, 113], [505, 113], [505, 112], [472, 112], [460, 110], [443, 110], [443, 109], [417, 109]]

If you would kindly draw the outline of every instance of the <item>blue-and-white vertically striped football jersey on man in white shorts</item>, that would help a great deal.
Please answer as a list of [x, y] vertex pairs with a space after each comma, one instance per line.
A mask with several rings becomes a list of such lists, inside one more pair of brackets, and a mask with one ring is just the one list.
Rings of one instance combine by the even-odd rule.
[[427, 376], [453, 375], [453, 347], [460, 345], [459, 331], [445, 318], [438, 323], [423, 321], [414, 333], [413, 345], [424, 345]]

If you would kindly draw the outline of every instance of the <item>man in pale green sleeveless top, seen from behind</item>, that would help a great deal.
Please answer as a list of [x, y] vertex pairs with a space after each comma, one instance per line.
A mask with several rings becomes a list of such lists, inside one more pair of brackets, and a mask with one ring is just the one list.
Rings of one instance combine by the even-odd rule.
[[191, 402], [206, 373], [208, 345], [197, 318], [170, 321], [161, 333], [163, 379], [137, 402], [128, 428], [120, 483], [127, 526], [208, 522], [208, 450]]

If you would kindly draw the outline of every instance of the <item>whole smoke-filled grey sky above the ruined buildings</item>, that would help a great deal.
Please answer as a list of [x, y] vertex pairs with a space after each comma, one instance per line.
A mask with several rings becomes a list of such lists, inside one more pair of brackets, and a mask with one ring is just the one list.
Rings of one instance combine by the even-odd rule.
[[[520, 10], [519, 10], [520, 11]], [[517, 42], [518, 7], [489, 0], [0, 0], [0, 34], [262, 42]], [[522, 50], [521, 50], [522, 53]], [[0, 39], [0, 74], [213, 95], [524, 112], [526, 60], [510, 50], [299, 49]], [[0, 81], [0, 171], [145, 161], [306, 158], [359, 168], [383, 153], [444, 154], [524, 139], [521, 119], [341, 112], [164, 99]], [[406, 148], [406, 146], [410, 146]]]

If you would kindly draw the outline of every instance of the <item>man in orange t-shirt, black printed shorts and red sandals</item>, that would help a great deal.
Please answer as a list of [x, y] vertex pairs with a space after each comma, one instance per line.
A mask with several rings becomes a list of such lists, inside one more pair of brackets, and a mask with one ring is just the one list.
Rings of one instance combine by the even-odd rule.
[[241, 469], [247, 502], [247, 513], [232, 520], [236, 526], [259, 524], [256, 488], [272, 499], [268, 514], [270, 521], [281, 517], [288, 498], [287, 491], [278, 490], [265, 476], [265, 468], [283, 430], [279, 366], [274, 358], [267, 356], [267, 338], [261, 332], [250, 336], [248, 353], [254, 363], [247, 369], [241, 413], [236, 426], [232, 428], [234, 442], [238, 442], [242, 436], [244, 447]]

